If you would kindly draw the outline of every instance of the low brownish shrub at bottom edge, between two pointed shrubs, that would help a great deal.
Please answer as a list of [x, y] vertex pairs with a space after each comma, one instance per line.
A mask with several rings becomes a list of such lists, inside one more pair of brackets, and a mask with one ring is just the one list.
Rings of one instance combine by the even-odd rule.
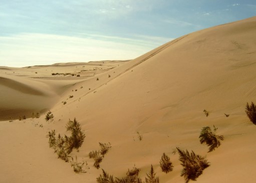
[[133, 169], [128, 169], [126, 176], [119, 179], [116, 178], [117, 183], [142, 183], [141, 178], [139, 177], [140, 169], [133, 167]]

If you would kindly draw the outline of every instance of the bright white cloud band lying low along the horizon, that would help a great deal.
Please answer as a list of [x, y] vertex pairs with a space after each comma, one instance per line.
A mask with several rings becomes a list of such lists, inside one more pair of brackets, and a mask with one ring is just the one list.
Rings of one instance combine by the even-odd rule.
[[[118, 41], [117, 41], [118, 40]], [[133, 59], [160, 43], [160, 37], [121, 38], [91, 34], [75, 37], [40, 33], [0, 36], [0, 65], [28, 66], [56, 62]]]

